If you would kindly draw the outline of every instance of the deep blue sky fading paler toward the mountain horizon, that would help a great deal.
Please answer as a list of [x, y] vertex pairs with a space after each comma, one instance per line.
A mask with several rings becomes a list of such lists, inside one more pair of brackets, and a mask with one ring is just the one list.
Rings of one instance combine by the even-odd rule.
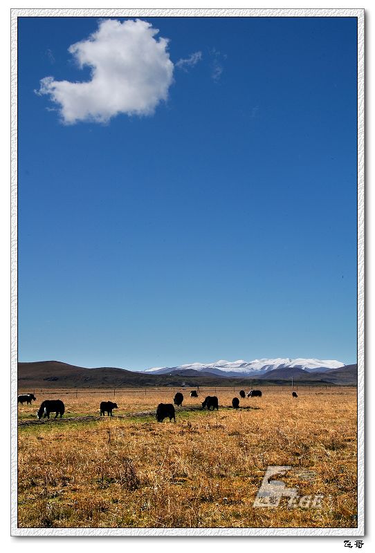
[[117, 21], [19, 19], [19, 360], [356, 362], [356, 19]]

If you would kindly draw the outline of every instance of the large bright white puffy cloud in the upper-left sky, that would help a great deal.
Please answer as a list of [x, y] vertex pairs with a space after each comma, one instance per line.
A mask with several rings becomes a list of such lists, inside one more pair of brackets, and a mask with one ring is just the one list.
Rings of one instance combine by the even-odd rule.
[[89, 82], [55, 81], [44, 77], [39, 94], [60, 106], [66, 124], [107, 122], [119, 113], [150, 115], [167, 100], [173, 80], [168, 40], [155, 39], [158, 29], [146, 21], [106, 19], [89, 39], [68, 51], [80, 68], [91, 67]]

